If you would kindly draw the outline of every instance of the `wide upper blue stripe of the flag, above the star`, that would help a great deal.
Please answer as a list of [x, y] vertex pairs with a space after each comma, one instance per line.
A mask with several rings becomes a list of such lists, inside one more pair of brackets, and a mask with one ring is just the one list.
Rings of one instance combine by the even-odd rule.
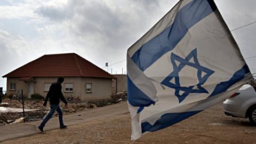
[[189, 28], [217, 9], [213, 0], [194, 0], [177, 13], [173, 24], [143, 44], [132, 60], [144, 71], [166, 52], [171, 51], [186, 35]]

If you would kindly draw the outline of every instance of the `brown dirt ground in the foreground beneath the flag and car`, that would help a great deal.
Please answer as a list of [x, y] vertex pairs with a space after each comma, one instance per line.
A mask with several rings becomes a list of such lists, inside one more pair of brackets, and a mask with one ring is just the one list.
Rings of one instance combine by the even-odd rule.
[[[130, 122], [130, 114], [122, 114], [2, 143], [133, 143]], [[220, 103], [134, 143], [256, 143], [256, 127], [224, 115]]]

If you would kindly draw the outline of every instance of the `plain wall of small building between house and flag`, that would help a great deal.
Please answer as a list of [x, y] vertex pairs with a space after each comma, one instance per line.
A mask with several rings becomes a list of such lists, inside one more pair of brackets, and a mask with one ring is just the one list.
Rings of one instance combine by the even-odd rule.
[[127, 91], [127, 75], [113, 75], [116, 79], [112, 80], [111, 92], [124, 92]]

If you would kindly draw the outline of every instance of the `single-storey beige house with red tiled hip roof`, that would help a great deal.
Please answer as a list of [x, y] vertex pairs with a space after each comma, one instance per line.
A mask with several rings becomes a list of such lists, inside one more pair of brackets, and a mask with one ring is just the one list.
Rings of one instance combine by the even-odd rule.
[[46, 96], [51, 83], [64, 77], [64, 97], [81, 100], [108, 99], [111, 95], [112, 75], [76, 53], [48, 54], [4, 75], [7, 95], [31, 94]]

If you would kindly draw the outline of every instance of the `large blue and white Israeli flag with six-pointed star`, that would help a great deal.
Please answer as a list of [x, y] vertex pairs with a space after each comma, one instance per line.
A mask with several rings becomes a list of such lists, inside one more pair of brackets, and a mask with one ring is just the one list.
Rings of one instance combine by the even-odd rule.
[[132, 139], [225, 100], [252, 78], [213, 0], [181, 0], [127, 51]]

